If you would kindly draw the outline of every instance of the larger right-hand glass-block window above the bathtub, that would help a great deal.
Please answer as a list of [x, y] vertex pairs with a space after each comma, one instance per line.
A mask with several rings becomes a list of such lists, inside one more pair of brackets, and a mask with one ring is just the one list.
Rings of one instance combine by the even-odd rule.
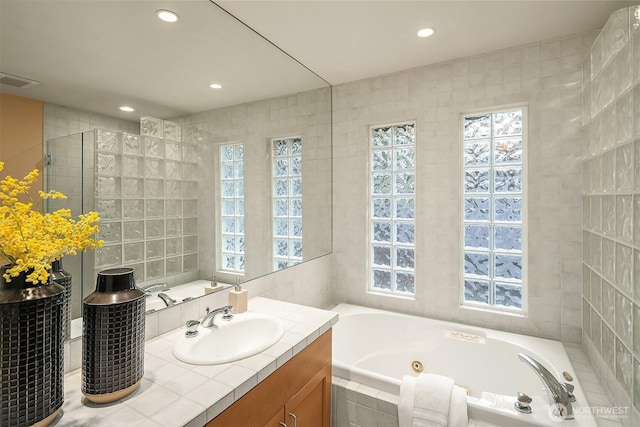
[[526, 309], [526, 109], [463, 122], [463, 283], [467, 306]]

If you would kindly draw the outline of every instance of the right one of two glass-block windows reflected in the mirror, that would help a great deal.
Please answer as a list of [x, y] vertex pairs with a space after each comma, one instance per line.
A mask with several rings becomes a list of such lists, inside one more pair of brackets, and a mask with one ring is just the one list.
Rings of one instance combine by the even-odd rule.
[[302, 138], [271, 141], [273, 268], [302, 262]]

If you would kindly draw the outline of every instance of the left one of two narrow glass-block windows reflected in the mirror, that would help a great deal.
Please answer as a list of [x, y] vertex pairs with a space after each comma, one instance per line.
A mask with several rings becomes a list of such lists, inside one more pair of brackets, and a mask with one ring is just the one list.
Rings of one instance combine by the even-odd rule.
[[220, 146], [221, 270], [244, 272], [244, 147]]

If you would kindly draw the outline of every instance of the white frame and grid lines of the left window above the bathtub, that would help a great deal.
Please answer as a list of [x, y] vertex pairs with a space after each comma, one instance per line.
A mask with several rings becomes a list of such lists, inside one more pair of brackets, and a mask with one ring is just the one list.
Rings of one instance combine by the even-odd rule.
[[[395, 199], [396, 198], [408, 198], [408, 195], [398, 195], [395, 193], [395, 183], [392, 180], [391, 186], [392, 186], [392, 190], [391, 190], [391, 195], [389, 196], [389, 198], [391, 199], [391, 219], [390, 222], [392, 224], [392, 231], [391, 231], [391, 244], [389, 245], [391, 247], [391, 268], [390, 269], [386, 269], [383, 268], [385, 270], [390, 270], [391, 271], [391, 289], [390, 290], [385, 290], [385, 289], [381, 289], [381, 288], [375, 288], [373, 286], [374, 284], [374, 273], [373, 270], [375, 268], [374, 264], [373, 264], [373, 245], [374, 245], [374, 241], [373, 241], [373, 222], [374, 222], [374, 208], [373, 208], [373, 198], [374, 198], [374, 194], [373, 194], [373, 174], [374, 174], [374, 170], [373, 170], [373, 143], [372, 143], [372, 131], [375, 128], [381, 128], [381, 127], [392, 127], [392, 126], [405, 126], [405, 125], [413, 125], [414, 127], [414, 132], [415, 132], [415, 136], [414, 136], [414, 141], [413, 141], [413, 149], [414, 149], [414, 167], [413, 167], [413, 175], [414, 175], [414, 191], [413, 191], [413, 202], [414, 202], [414, 214], [413, 214], [413, 220], [411, 221], [413, 224], [413, 229], [414, 229], [414, 241], [412, 245], [399, 245], [400, 247], [407, 247], [407, 248], [412, 248], [414, 251], [414, 267], [413, 269], [398, 269], [394, 266], [394, 260], [395, 260], [395, 256], [393, 255], [393, 252], [395, 250], [395, 248], [397, 247], [397, 245], [394, 243], [394, 236], [395, 236], [395, 230], [393, 227], [393, 224], [395, 224], [395, 219], [394, 219], [394, 214], [393, 214], [393, 209], [395, 207]], [[416, 212], [417, 212], [417, 194], [418, 194], [418, 180], [417, 180], [417, 156], [418, 156], [418, 144], [417, 144], [417, 123], [416, 120], [404, 120], [404, 121], [399, 121], [399, 122], [393, 122], [393, 123], [384, 123], [384, 124], [375, 124], [375, 125], [371, 125], [369, 126], [368, 129], [368, 134], [367, 134], [367, 150], [368, 150], [368, 155], [367, 155], [367, 224], [366, 224], [366, 235], [367, 235], [367, 281], [366, 281], [366, 286], [367, 286], [367, 293], [370, 294], [376, 294], [376, 295], [384, 295], [384, 296], [389, 296], [389, 297], [396, 297], [396, 298], [403, 298], [403, 299], [411, 299], [411, 300], [415, 300], [416, 298], [416, 293], [417, 293], [417, 274], [416, 274], [416, 267], [415, 265], [417, 264], [417, 251], [416, 251], [416, 238], [417, 238], [417, 220], [416, 220]], [[391, 150], [393, 150], [393, 148], [395, 147], [395, 145], [391, 145], [390, 148]], [[393, 157], [392, 157], [393, 159]], [[395, 166], [392, 165], [391, 168], [391, 175], [393, 176], [393, 173], [395, 171]], [[380, 196], [380, 198], [383, 198], [382, 196]], [[409, 221], [401, 221], [401, 222], [409, 222]], [[395, 273], [397, 271], [400, 272], [411, 272], [413, 274], [414, 277], [414, 291], [411, 292], [402, 292], [402, 291], [398, 291], [396, 290], [396, 286], [395, 286]]]

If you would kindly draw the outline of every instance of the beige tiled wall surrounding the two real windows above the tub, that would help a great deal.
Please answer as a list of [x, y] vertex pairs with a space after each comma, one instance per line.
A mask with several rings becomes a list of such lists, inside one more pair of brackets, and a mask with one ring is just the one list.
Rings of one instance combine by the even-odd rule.
[[[333, 281], [339, 301], [546, 338], [582, 338], [581, 80], [597, 32], [333, 89]], [[460, 307], [460, 114], [527, 105], [529, 313]], [[416, 297], [367, 293], [370, 125], [416, 120]]]

